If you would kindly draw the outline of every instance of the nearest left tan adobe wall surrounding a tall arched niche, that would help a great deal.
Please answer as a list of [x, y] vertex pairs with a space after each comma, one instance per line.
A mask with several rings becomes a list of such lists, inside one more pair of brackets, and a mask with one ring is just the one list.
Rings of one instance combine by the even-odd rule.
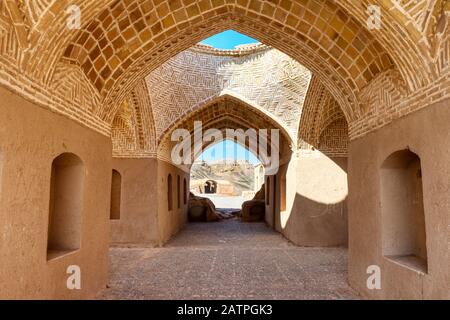
[[[107, 283], [111, 141], [0, 87], [0, 298], [92, 298]], [[47, 261], [50, 179], [61, 153], [84, 162], [81, 249]], [[68, 290], [70, 265], [81, 290]]]

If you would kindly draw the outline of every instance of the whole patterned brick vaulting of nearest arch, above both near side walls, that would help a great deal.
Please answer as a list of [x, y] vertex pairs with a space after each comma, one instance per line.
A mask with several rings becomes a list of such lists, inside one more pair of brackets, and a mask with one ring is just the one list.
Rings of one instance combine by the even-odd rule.
[[[69, 5], [81, 9], [81, 30], [67, 28]], [[380, 30], [367, 29], [368, 5], [382, 10]], [[311, 70], [341, 107], [351, 139], [450, 96], [448, 0], [4, 0], [0, 84], [111, 135], [124, 101], [148, 99], [133, 93], [145, 77], [230, 28]], [[258, 50], [208, 54], [241, 59]], [[145, 109], [141, 120], [136, 114], [138, 147], [116, 146], [154, 152], [139, 122], [152, 112]], [[296, 115], [284, 115], [292, 128]]]

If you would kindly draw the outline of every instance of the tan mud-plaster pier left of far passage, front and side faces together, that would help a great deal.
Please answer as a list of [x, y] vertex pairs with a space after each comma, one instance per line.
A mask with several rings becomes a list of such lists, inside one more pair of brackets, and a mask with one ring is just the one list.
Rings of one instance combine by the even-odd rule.
[[[120, 220], [111, 220], [112, 245], [161, 246], [183, 228], [187, 220], [183, 180], [186, 179], [186, 186], [189, 185], [186, 172], [156, 158], [113, 159], [113, 169], [122, 176], [122, 195]], [[173, 210], [170, 211], [169, 174], [172, 175], [173, 199]]]

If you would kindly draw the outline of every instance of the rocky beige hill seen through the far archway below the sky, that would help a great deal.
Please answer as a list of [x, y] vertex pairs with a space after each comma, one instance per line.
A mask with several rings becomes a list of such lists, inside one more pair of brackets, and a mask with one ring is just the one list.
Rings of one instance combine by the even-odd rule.
[[236, 195], [242, 191], [253, 191], [254, 189], [254, 166], [247, 161], [233, 163], [206, 163], [196, 162], [192, 165], [191, 181], [196, 180], [226, 180], [234, 185]]

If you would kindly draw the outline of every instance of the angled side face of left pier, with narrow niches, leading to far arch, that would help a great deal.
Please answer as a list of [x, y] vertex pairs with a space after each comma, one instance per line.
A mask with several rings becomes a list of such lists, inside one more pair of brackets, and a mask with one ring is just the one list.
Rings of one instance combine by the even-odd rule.
[[[167, 179], [172, 175], [173, 210], [168, 209]], [[180, 208], [177, 205], [177, 177], [180, 176]], [[159, 241], [163, 245], [177, 234], [187, 222], [188, 204], [183, 201], [183, 179], [189, 192], [189, 174], [162, 160], [158, 160], [158, 225]], [[189, 200], [189, 197], [187, 198]]]

